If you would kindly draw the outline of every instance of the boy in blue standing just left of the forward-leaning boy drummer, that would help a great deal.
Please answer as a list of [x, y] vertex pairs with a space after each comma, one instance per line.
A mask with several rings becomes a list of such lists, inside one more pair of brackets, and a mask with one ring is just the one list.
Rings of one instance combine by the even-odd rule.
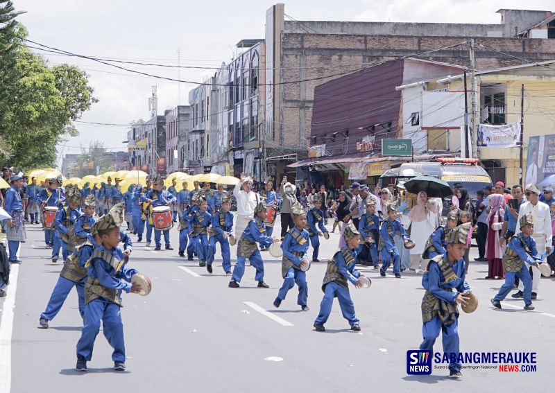
[[212, 216], [212, 229], [210, 229], [210, 244], [208, 245], [208, 256], [206, 259], [206, 270], [212, 273], [212, 262], [216, 254], [216, 243], [221, 247], [221, 267], [225, 274], [231, 274], [231, 252], [229, 238], [233, 234], [233, 214], [231, 209], [231, 196], [223, 195], [221, 207]]

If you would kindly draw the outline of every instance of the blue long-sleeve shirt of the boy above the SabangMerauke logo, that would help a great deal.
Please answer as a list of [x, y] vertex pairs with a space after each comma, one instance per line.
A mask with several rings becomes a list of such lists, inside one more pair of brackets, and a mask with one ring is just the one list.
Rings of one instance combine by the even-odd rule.
[[[447, 261], [447, 252], [443, 254], [443, 259]], [[466, 282], [466, 263], [464, 258], [456, 261], [451, 265], [457, 279], [452, 279], [445, 282], [441, 269], [436, 261], [429, 261], [428, 271], [422, 277], [422, 286], [432, 292], [438, 299], [444, 300], [450, 304], [455, 303], [456, 295], [458, 292], [464, 293], [470, 291], [470, 286]], [[445, 289], [444, 289], [445, 288]], [[455, 289], [456, 292], [452, 292]]]

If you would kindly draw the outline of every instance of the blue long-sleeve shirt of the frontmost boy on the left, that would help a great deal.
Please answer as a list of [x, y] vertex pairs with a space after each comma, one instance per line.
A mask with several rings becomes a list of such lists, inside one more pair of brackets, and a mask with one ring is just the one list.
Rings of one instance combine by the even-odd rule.
[[[114, 248], [112, 251], [108, 250], [103, 245], [99, 246], [99, 248], [114, 255], [120, 261], [123, 261], [123, 252], [121, 252], [118, 247]], [[131, 276], [136, 273], [137, 270], [128, 268], [127, 263], [123, 264], [121, 270], [116, 272], [108, 261], [104, 261], [101, 258], [92, 259], [87, 267], [87, 274], [89, 277], [92, 279], [99, 279], [101, 286], [117, 289], [119, 294], [121, 294], [121, 290], [125, 290], [128, 293], [131, 291], [131, 287], [133, 286], [131, 284]]]

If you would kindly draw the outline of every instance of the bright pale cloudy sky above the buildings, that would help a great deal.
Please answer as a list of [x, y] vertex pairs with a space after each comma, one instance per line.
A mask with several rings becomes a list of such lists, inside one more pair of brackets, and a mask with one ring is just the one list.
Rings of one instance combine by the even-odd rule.
[[[87, 56], [158, 64], [219, 67], [230, 62], [235, 45], [264, 38], [268, 0], [12, 0], [24, 10], [28, 39]], [[284, 1], [294, 19], [498, 24], [499, 8], [522, 9], [522, 0], [294, 0]], [[529, 10], [555, 11], [552, 0], [529, 0]], [[178, 55], [178, 50], [180, 54]], [[44, 53], [43, 53], [44, 54]], [[178, 63], [178, 57], [180, 61]], [[157, 87], [158, 114], [188, 104], [196, 87], [138, 76], [105, 64], [63, 55], [47, 55], [49, 64], [75, 64], [87, 71], [99, 102], [81, 121], [127, 124], [149, 119], [148, 97]], [[215, 69], [164, 69], [121, 64], [130, 69], [180, 80], [202, 82]], [[58, 154], [80, 152], [92, 141], [111, 151], [126, 150], [126, 126], [75, 123], [78, 137], [58, 145]], [[61, 164], [61, 160], [58, 162]]]

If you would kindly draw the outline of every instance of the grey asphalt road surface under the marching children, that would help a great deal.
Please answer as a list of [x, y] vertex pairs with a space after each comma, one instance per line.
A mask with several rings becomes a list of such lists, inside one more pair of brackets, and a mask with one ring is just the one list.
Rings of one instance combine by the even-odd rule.
[[[326, 333], [317, 333], [312, 324], [323, 295], [324, 262], [313, 263], [308, 272], [309, 312], [296, 305], [296, 288], [275, 309], [272, 302], [282, 284], [280, 261], [264, 253], [265, 281], [271, 288], [256, 288], [250, 267], [240, 289], [228, 288], [219, 252], [214, 274], [208, 274], [177, 255], [176, 229], [171, 231], [174, 251], [155, 252], [135, 244], [130, 264], [151, 277], [153, 292], [148, 297], [123, 295], [128, 370], [112, 371], [111, 348], [99, 334], [89, 371], [76, 372], [81, 327], [76, 292], [49, 329], [37, 328], [62, 267], [51, 263], [51, 250], [42, 239], [42, 230], [31, 225], [20, 253], [23, 263], [12, 270], [8, 297], [0, 299], [0, 393], [515, 392], [546, 390], [552, 382], [553, 279], [542, 279], [536, 311], [523, 311], [522, 300], [514, 299], [506, 299], [504, 310], [498, 311], [489, 299], [503, 281], [484, 279], [487, 263], [472, 263], [468, 281], [480, 306], [459, 319], [461, 351], [536, 352], [536, 372], [463, 369], [461, 381], [446, 378], [445, 369], [434, 369], [432, 376], [408, 376], [407, 350], [418, 349], [422, 340], [421, 276], [395, 279], [390, 270], [382, 279], [362, 267], [373, 285], [350, 288], [361, 332], [349, 330], [335, 303]], [[332, 234], [323, 241], [322, 261], [336, 250], [338, 240]], [[470, 255], [477, 256], [477, 249]], [[442, 351], [441, 338], [434, 350]]]

